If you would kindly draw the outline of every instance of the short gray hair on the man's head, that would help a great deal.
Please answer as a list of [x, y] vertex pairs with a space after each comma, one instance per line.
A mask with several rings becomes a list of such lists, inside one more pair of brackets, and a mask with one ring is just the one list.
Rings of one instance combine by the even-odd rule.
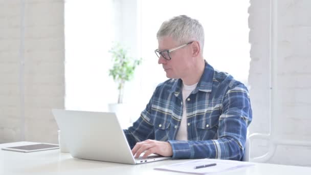
[[198, 20], [186, 15], [170, 18], [162, 23], [157, 38], [171, 36], [180, 45], [196, 40], [199, 42], [201, 54], [204, 48], [204, 29]]

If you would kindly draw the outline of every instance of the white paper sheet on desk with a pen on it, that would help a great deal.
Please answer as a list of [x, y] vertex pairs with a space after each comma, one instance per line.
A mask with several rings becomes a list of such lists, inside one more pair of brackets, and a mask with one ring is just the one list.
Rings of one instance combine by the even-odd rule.
[[[216, 163], [215, 166], [209, 166], [204, 168], [194, 169], [195, 166], [206, 165]], [[187, 161], [183, 163], [176, 163], [171, 165], [164, 165], [157, 168], [156, 170], [166, 170], [166, 171], [177, 171], [177, 172], [187, 172], [196, 174], [206, 174], [227, 171], [232, 169], [237, 169], [246, 166], [253, 166], [254, 163], [241, 162], [241, 161], [231, 161], [231, 160], [219, 160], [219, 159], [198, 159]]]

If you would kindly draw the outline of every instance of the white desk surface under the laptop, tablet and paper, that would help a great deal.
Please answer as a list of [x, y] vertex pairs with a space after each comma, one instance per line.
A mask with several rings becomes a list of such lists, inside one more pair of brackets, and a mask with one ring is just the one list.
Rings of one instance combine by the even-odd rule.
[[[0, 144], [0, 147], [18, 146], [28, 142]], [[173, 164], [189, 160], [165, 160], [140, 165], [127, 165], [101, 161], [74, 159], [59, 149], [38, 152], [15, 152], [0, 150], [0, 174], [183, 174], [180, 172], [153, 170], [164, 164]], [[311, 167], [285, 166], [256, 163], [255, 166], [236, 169], [218, 175], [228, 174], [311, 174]]]

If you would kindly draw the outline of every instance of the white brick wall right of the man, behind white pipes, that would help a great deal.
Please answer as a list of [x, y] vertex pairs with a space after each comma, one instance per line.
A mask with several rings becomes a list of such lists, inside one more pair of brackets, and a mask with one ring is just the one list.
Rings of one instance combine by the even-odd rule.
[[[272, 1], [272, 0], [271, 0]], [[278, 139], [311, 140], [311, 1], [275, 1], [278, 114], [272, 116]], [[269, 132], [270, 1], [253, 0], [249, 8], [251, 49], [250, 95], [254, 120], [251, 133]], [[272, 36], [274, 37], [274, 36]], [[275, 108], [275, 110], [276, 110]], [[265, 141], [254, 140], [252, 156], [267, 151]], [[311, 166], [311, 146], [279, 145], [270, 163]]]

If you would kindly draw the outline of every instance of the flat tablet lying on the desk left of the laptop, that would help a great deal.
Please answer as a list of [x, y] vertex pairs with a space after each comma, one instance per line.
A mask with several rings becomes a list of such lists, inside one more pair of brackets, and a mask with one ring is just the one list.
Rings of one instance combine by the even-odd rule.
[[19, 151], [19, 152], [34, 152], [34, 151], [42, 151], [42, 150], [50, 150], [50, 149], [58, 149], [59, 145], [50, 144], [50, 143], [39, 143], [32, 145], [23, 145], [23, 146], [13, 146], [13, 147], [5, 147], [3, 150], [11, 150], [11, 151]]

